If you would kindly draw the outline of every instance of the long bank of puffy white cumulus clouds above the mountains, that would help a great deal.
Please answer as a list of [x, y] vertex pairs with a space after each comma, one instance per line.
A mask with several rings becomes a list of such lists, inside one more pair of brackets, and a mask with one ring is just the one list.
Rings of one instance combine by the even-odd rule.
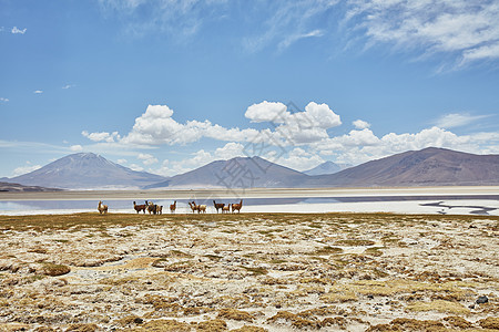
[[258, 155], [271, 162], [306, 170], [325, 159], [357, 165], [375, 158], [386, 157], [405, 151], [425, 147], [446, 147], [470, 153], [499, 153], [498, 133], [475, 133], [457, 135], [452, 127], [467, 125], [485, 116], [469, 114], [447, 114], [438, 118], [435, 126], [418, 133], [388, 133], [376, 135], [370, 124], [363, 120], [352, 123], [354, 127], [347, 134], [330, 135], [330, 129], [342, 126], [342, 120], [327, 104], [309, 102], [303, 111], [281, 102], [263, 101], [249, 105], [244, 113], [249, 124], [263, 128], [224, 127], [208, 120], [190, 120], [180, 123], [174, 111], [167, 105], [149, 105], [143, 114], [135, 118], [131, 131], [124, 135], [118, 132], [89, 133], [82, 135], [98, 145], [108, 148], [160, 148], [174, 146], [193, 147], [201, 139], [210, 139], [216, 146], [214, 151], [200, 149], [183, 160], [160, 163], [152, 153], [140, 153], [135, 157], [143, 166], [161, 164], [160, 168], [150, 168], [162, 175], [174, 175], [203, 166], [215, 159], [230, 159], [236, 156]]

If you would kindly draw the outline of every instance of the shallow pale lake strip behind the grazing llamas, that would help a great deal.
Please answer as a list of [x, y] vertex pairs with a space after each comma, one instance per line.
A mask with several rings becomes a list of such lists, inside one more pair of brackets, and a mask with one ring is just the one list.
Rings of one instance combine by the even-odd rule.
[[[216, 212], [213, 199], [179, 199], [176, 212], [191, 212], [189, 201], [207, 206], [207, 212]], [[216, 199], [217, 203], [238, 203], [240, 198]], [[163, 212], [170, 212], [169, 200], [156, 200]], [[366, 197], [294, 197], [294, 198], [243, 198], [243, 211], [269, 212], [408, 212], [408, 214], [459, 214], [499, 215], [499, 195], [467, 196], [366, 196]], [[0, 200], [0, 215], [74, 214], [96, 211], [96, 200]], [[110, 212], [134, 214], [133, 200], [106, 200]], [[136, 204], [144, 204], [138, 200]]]

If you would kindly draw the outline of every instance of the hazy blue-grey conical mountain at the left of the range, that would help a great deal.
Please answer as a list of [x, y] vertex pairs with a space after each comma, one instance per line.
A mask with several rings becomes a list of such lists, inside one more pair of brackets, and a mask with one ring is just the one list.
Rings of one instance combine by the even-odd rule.
[[80, 153], [10, 178], [9, 181], [63, 189], [124, 189], [142, 188], [165, 179], [159, 175], [132, 170], [92, 153]]

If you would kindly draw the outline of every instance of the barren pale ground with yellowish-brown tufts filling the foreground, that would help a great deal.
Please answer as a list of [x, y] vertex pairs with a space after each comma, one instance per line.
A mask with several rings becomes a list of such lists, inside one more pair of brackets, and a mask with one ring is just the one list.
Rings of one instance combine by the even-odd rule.
[[478, 216], [0, 216], [0, 331], [492, 331], [498, 236]]

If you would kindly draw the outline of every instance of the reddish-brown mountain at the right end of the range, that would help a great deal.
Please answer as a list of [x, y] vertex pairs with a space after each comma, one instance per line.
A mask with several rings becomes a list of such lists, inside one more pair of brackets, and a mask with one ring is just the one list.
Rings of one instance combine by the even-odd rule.
[[305, 187], [499, 185], [499, 155], [428, 147], [371, 160], [333, 175], [310, 177]]

